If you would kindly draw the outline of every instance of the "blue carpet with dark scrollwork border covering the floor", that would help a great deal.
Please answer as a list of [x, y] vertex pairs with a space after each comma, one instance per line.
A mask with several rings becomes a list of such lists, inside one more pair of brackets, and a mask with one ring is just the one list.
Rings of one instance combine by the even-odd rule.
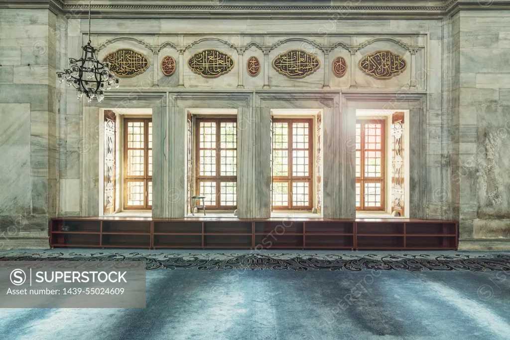
[[[46, 257], [87, 255], [51, 252]], [[19, 259], [44, 257], [29, 253]], [[14, 253], [7, 254], [0, 253], [0, 259]], [[3, 309], [0, 338], [496, 340], [510, 334], [510, 269], [504, 254], [347, 254], [358, 256], [359, 263], [346, 254], [329, 254], [331, 263], [324, 262], [328, 254], [274, 254], [271, 260], [245, 255], [136, 253], [131, 256], [155, 259], [150, 263], [157, 268], [147, 271], [147, 308]], [[165, 256], [170, 260], [162, 265]], [[308, 262], [299, 264], [299, 258]], [[225, 263], [232, 269], [225, 270]], [[370, 269], [374, 263], [385, 268]], [[335, 268], [317, 269], [323, 266]]]

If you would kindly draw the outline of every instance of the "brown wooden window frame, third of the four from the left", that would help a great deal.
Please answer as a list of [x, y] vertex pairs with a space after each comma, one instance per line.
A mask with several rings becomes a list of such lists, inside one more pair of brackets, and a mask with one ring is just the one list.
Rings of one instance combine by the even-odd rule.
[[[311, 210], [314, 205], [313, 193], [315, 192], [314, 180], [313, 180], [313, 177], [314, 177], [313, 170], [314, 170], [314, 163], [315, 163], [315, 158], [314, 158], [314, 147], [315, 147], [314, 119], [313, 118], [274, 118], [273, 117], [273, 124], [274, 123], [287, 123], [288, 136], [289, 136], [287, 149], [275, 149], [273, 147], [273, 145], [274, 145], [273, 144], [273, 145], [271, 145], [271, 150], [272, 150], [272, 152], [287, 150], [288, 155], [289, 155], [289, 160], [288, 160], [289, 169], [287, 172], [288, 176], [273, 176], [273, 174], [271, 174], [271, 181], [272, 181], [272, 183], [278, 183], [278, 182], [279, 183], [285, 183], [285, 182], [288, 183], [287, 202], [289, 202], [289, 204], [287, 206], [273, 205], [273, 199], [271, 197], [272, 209], [273, 210]], [[309, 157], [309, 159], [308, 159], [308, 176], [293, 176], [292, 175], [292, 167], [293, 167], [292, 151], [294, 150], [292, 147], [292, 145], [293, 145], [292, 129], [293, 129], [294, 123], [308, 123], [308, 134], [309, 134], [308, 135], [308, 149], [296, 149], [296, 150], [308, 150], [308, 157]], [[274, 134], [274, 128], [273, 128], [273, 134]], [[271, 136], [271, 142], [274, 143], [274, 136]], [[274, 159], [274, 156], [272, 156], [272, 159]], [[271, 171], [273, 171], [273, 166], [271, 166]], [[301, 183], [308, 182], [309, 183], [309, 185], [308, 185], [309, 205], [294, 206], [293, 201], [292, 201], [292, 183], [294, 183], [294, 182], [301, 182]], [[272, 183], [271, 183], [271, 186], [272, 186]], [[272, 192], [271, 192], [271, 195], [273, 195]]]

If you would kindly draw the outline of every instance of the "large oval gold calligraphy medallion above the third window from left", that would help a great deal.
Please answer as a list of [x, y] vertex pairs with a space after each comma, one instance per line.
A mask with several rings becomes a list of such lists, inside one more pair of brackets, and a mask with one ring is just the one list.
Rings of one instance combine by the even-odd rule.
[[273, 60], [273, 68], [288, 78], [298, 79], [311, 75], [320, 67], [320, 60], [303, 50], [289, 50]]

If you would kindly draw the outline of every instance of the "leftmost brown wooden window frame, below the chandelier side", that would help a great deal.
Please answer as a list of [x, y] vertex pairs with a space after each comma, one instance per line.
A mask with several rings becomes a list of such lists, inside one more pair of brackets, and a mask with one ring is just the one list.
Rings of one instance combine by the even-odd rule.
[[[128, 150], [140, 150], [139, 148], [127, 148], [127, 124], [129, 123], [141, 123], [143, 122], [144, 125], [144, 137], [143, 137], [143, 143], [144, 143], [144, 147], [143, 147], [143, 150], [144, 150], [144, 171], [143, 171], [143, 174], [144, 176], [128, 176], [127, 175], [127, 151]], [[152, 209], [152, 205], [149, 205], [149, 186], [148, 186], [148, 183], [149, 182], [152, 182], [152, 176], [148, 176], [148, 169], [149, 169], [149, 162], [148, 162], [148, 159], [149, 159], [149, 150], [152, 150], [152, 148], [149, 148], [148, 145], [149, 145], [149, 139], [148, 139], [148, 136], [149, 136], [149, 122], [152, 122], [152, 118], [124, 118], [123, 119], [123, 128], [124, 130], [122, 131], [122, 134], [123, 134], [123, 155], [124, 155], [124, 171], [123, 171], [123, 186], [124, 186], [124, 195], [123, 195], [123, 210], [151, 210]], [[152, 157], [154, 158], [154, 155], [152, 155]], [[127, 205], [127, 201], [128, 201], [128, 197], [127, 197], [127, 183], [128, 182], [141, 182], [143, 181], [144, 182], [144, 190], [145, 190], [145, 195], [144, 195], [144, 205], [139, 205], [139, 206], [129, 206]]]

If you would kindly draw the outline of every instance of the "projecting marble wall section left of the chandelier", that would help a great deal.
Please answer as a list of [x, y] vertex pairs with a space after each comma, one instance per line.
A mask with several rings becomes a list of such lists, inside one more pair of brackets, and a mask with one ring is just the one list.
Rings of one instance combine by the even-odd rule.
[[0, 248], [47, 247], [56, 215], [57, 15], [0, 11]]

